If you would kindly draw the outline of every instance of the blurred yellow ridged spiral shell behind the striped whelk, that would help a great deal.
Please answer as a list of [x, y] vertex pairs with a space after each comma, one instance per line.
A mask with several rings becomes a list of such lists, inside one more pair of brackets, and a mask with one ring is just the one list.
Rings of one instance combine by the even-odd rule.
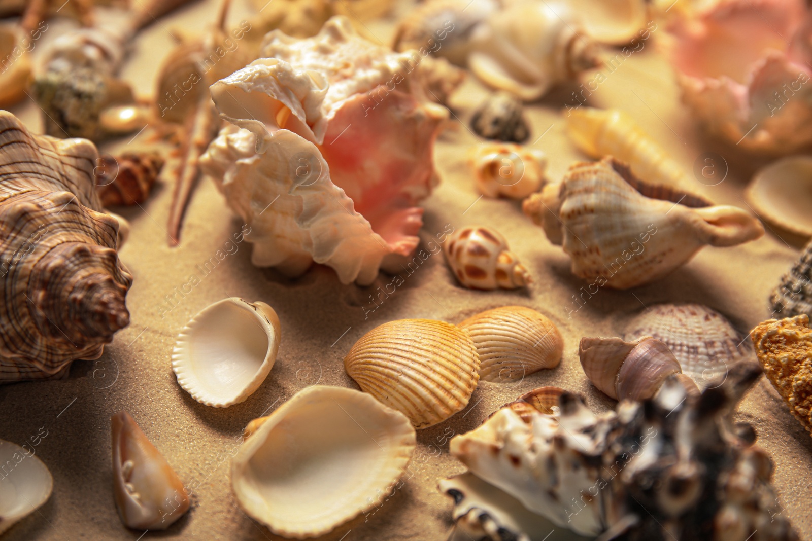
[[600, 159], [614, 156], [623, 161], [637, 178], [651, 184], [688, 189], [685, 171], [634, 119], [620, 109], [569, 109], [567, 135], [587, 156]]

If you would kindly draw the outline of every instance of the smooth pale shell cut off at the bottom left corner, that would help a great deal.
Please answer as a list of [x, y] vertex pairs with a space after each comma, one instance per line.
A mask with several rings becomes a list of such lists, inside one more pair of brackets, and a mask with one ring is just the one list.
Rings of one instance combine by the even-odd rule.
[[0, 440], [0, 535], [45, 504], [54, 490], [54, 478], [34, 453], [30, 445]]

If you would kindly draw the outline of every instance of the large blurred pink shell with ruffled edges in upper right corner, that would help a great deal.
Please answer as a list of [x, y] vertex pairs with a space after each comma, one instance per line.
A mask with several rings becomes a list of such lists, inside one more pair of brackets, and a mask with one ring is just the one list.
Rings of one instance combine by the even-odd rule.
[[726, 0], [676, 20], [669, 32], [683, 101], [712, 132], [762, 152], [812, 142], [812, 19], [804, 2]]

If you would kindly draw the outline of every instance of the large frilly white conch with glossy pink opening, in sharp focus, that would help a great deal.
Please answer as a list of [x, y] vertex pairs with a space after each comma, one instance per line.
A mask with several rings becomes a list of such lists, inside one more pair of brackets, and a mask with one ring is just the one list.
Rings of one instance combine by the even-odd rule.
[[270, 32], [261, 54], [211, 87], [231, 125], [201, 170], [251, 227], [253, 264], [297, 276], [315, 261], [369, 284], [420, 242], [447, 109], [412, 95], [417, 53], [365, 41], [343, 17], [308, 40]]

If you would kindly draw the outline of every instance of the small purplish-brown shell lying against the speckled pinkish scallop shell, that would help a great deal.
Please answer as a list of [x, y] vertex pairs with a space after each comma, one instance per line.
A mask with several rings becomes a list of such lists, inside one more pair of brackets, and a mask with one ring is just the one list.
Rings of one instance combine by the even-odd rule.
[[662, 341], [641, 337], [581, 338], [578, 346], [586, 377], [615, 400], [646, 400], [654, 397], [668, 376], [676, 375], [689, 392], [699, 393], [697, 384], [682, 374], [680, 362]]

